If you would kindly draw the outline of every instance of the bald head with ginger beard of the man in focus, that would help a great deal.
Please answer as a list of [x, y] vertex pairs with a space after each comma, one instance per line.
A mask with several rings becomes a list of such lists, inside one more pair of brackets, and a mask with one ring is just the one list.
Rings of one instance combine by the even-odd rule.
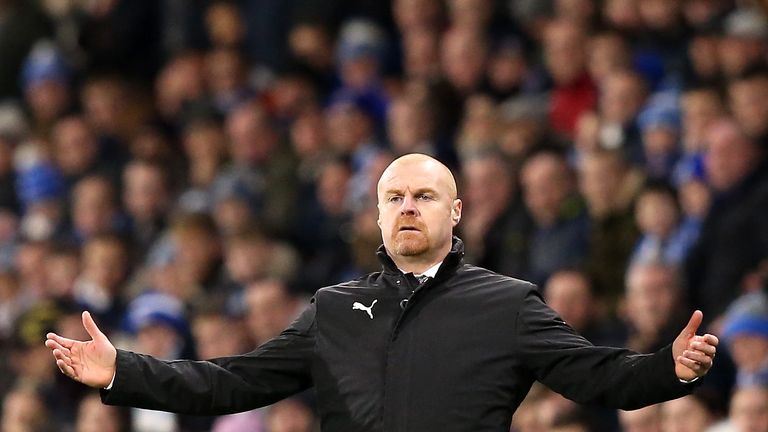
[[423, 154], [402, 156], [384, 170], [377, 194], [381, 236], [398, 267], [423, 271], [448, 254], [462, 206], [448, 167]]

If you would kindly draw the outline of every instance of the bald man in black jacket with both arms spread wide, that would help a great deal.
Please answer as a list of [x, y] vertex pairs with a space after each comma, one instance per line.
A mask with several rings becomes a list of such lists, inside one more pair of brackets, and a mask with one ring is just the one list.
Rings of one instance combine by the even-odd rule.
[[107, 404], [189, 414], [251, 410], [315, 388], [323, 431], [502, 431], [534, 380], [578, 402], [638, 408], [688, 393], [717, 338], [691, 323], [651, 355], [594, 347], [528, 282], [464, 264], [451, 172], [411, 154], [378, 184], [382, 271], [320, 289], [247, 354], [161, 361], [115, 350], [86, 312], [86, 342], [49, 334], [66, 375]]

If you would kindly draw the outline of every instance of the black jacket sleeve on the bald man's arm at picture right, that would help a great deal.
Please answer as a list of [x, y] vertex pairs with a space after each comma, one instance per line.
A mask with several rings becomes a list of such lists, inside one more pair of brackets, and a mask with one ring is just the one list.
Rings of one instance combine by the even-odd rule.
[[653, 354], [596, 347], [550, 309], [535, 287], [523, 299], [516, 332], [523, 364], [536, 379], [579, 403], [629, 410], [692, 389], [675, 374], [671, 345]]

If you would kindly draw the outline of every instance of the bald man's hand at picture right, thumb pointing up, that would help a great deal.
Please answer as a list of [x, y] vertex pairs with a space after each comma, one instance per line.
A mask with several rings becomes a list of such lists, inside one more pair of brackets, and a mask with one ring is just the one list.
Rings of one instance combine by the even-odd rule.
[[715, 359], [717, 345], [720, 343], [715, 335], [696, 335], [702, 319], [704, 314], [701, 311], [695, 311], [688, 325], [672, 343], [675, 374], [683, 381], [691, 381], [704, 376], [709, 371]]

